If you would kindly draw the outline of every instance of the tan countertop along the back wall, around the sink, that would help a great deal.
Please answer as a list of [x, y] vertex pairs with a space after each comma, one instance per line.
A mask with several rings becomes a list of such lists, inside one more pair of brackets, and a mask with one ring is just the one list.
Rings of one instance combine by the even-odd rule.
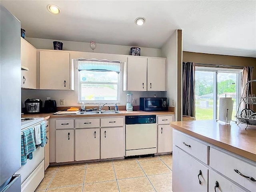
[[22, 118], [28, 117], [43, 117], [44, 120], [49, 118], [69, 118], [69, 117], [102, 117], [102, 116], [128, 116], [128, 115], [170, 115], [174, 114], [174, 112], [170, 111], [156, 111], [156, 112], [146, 112], [146, 111], [126, 111], [120, 110], [122, 113], [115, 113], [115, 114], [86, 114], [86, 115], [54, 115], [53, 113], [39, 113], [39, 114], [24, 114]]

